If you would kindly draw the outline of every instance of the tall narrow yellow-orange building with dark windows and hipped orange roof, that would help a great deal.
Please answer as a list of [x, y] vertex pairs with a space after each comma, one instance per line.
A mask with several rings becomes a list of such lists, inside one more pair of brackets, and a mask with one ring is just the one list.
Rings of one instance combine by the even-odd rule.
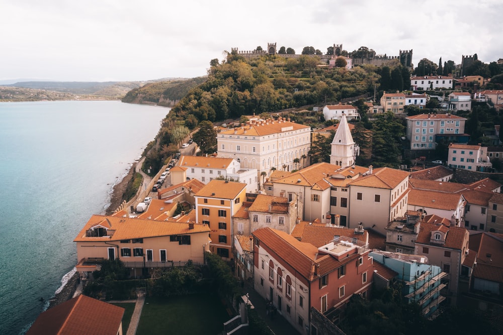
[[246, 200], [246, 184], [213, 179], [195, 195], [196, 222], [210, 228], [210, 252], [232, 257], [232, 216]]

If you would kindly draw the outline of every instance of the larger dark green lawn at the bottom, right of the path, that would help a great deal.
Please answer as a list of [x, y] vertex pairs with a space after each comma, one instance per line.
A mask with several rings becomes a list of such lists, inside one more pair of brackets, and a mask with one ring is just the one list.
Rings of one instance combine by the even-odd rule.
[[230, 319], [217, 296], [197, 294], [169, 299], [146, 298], [137, 335], [210, 334], [223, 330]]

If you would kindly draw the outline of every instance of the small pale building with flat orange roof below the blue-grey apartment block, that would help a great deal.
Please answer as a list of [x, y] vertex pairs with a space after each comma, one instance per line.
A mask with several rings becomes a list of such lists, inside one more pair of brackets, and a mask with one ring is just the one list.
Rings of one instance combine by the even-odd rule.
[[492, 163], [487, 157], [487, 147], [480, 145], [451, 143], [447, 164], [451, 168], [481, 172], [488, 172], [492, 168]]

